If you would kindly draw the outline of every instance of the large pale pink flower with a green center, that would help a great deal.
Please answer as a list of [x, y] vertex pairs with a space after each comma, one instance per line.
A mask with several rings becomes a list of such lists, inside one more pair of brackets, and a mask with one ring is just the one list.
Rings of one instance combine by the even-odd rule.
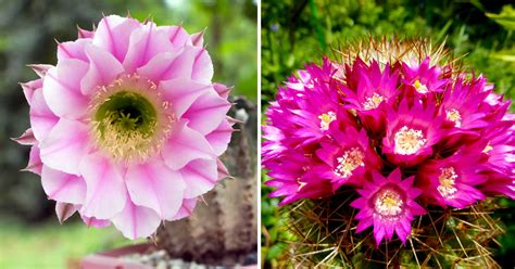
[[33, 66], [40, 78], [23, 85], [32, 128], [18, 141], [32, 144], [27, 169], [59, 208], [136, 239], [188, 216], [215, 185], [230, 103], [202, 40], [111, 15], [59, 43], [55, 66]]

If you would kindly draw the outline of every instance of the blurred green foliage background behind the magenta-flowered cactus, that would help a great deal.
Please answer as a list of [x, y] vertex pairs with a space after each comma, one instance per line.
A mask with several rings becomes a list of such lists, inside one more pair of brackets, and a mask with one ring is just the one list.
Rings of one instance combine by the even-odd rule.
[[[434, 42], [447, 39], [455, 56], [466, 55], [466, 69], [482, 73], [495, 91], [515, 99], [515, 11], [513, 1], [481, 0], [286, 0], [262, 1], [262, 110], [275, 98], [277, 87], [309, 62], [322, 62], [331, 48], [373, 36], [422, 36]], [[512, 104], [512, 112], [514, 110]], [[263, 121], [264, 123], [264, 121]], [[263, 175], [263, 174], [262, 174]], [[262, 176], [262, 180], [267, 180]], [[262, 187], [262, 262], [276, 267], [287, 259], [284, 230], [286, 213], [277, 208], [278, 198]], [[498, 210], [507, 233], [500, 238], [503, 247], [495, 259], [513, 268], [515, 258], [515, 214], [513, 201], [502, 200]]]

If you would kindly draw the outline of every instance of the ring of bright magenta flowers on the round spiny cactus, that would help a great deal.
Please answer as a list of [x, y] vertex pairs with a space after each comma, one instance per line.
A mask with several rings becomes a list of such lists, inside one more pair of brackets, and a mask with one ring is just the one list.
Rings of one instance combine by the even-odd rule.
[[373, 226], [377, 244], [405, 242], [427, 205], [514, 198], [515, 116], [492, 88], [430, 56], [310, 64], [266, 112], [271, 196], [284, 205], [354, 188], [356, 232]]

